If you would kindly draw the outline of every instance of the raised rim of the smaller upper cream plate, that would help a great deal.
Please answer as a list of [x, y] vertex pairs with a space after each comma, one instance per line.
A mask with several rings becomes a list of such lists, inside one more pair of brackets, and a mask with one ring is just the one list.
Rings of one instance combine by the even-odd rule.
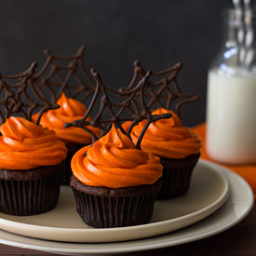
[[[203, 163], [200, 162], [198, 164], [200, 165], [200, 168], [204, 169], [205, 165]], [[28, 237], [37, 238], [37, 239], [47, 239], [47, 236], [49, 236], [48, 240], [57, 241], [57, 242], [84, 242], [84, 243], [122, 242], [122, 241], [128, 241], [128, 240], [143, 239], [143, 238], [152, 237], [152, 236], [161, 236], [169, 232], [177, 231], [181, 228], [184, 228], [186, 226], [194, 224], [195, 222], [199, 222], [207, 218], [215, 210], [219, 209], [222, 206], [222, 204], [226, 201], [226, 199], [229, 196], [229, 184], [227, 180], [220, 172], [216, 171], [214, 168], [210, 168], [210, 167], [208, 168], [209, 168], [209, 171], [211, 171], [215, 175], [216, 179], [219, 179], [219, 182], [222, 182], [222, 191], [218, 195], [217, 199], [209, 202], [207, 206], [201, 209], [196, 209], [193, 212], [190, 212], [188, 214], [185, 214], [173, 219], [168, 219], [161, 222], [150, 222], [146, 224], [133, 225], [128, 227], [97, 228], [97, 229], [43, 226], [38, 224], [11, 221], [3, 217], [0, 217], [0, 224], [4, 225], [2, 226], [3, 230], [16, 235], [28, 236]], [[202, 169], [200, 169], [200, 171], [203, 171]], [[175, 224], [178, 225], [178, 228], [177, 227], [173, 228], [173, 225]], [[14, 226], [15, 228], [18, 227], [18, 230], [16, 232], [13, 231]], [[22, 229], [25, 229], [25, 231], [22, 231]], [[38, 233], [36, 233], [35, 230], [38, 230], [39, 233], [41, 232], [42, 235], [38, 236]], [[137, 231], [141, 231], [141, 233], [137, 234], [137, 236], [134, 236], [134, 232], [137, 232]], [[83, 240], [82, 239], [67, 240], [65, 237], [52, 239], [53, 236], [59, 237], [58, 235], [63, 232], [68, 233], [68, 235], [66, 235], [65, 237], [70, 237], [72, 235], [76, 235], [76, 236], [79, 235], [79, 236], [86, 236], [86, 238]], [[50, 233], [50, 235], [48, 235], [47, 233]], [[121, 235], [120, 233], [124, 233], [128, 235], [120, 236], [121, 238], [118, 238], [118, 235]], [[113, 239], [108, 238], [107, 236], [108, 234], [110, 234], [110, 237], [115, 236], [115, 238]], [[92, 241], [90, 239], [90, 235], [91, 236], [101, 235], [102, 238]]]

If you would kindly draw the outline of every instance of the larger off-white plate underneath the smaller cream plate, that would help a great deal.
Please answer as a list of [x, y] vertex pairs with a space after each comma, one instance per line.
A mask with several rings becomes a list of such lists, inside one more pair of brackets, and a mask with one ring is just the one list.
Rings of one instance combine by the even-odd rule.
[[46, 241], [18, 236], [0, 230], [0, 243], [23, 249], [35, 249], [60, 254], [102, 255], [165, 248], [216, 235], [231, 228], [245, 218], [253, 206], [254, 198], [248, 183], [236, 175], [236, 173], [207, 161], [201, 160], [200, 163], [222, 173], [229, 182], [230, 187], [230, 196], [222, 208], [218, 209], [202, 222], [197, 222], [192, 226], [164, 236], [127, 242], [97, 244]]

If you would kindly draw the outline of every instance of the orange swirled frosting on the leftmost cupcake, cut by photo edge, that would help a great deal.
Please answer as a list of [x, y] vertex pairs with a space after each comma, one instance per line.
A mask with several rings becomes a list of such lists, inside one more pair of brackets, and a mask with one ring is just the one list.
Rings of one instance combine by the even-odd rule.
[[54, 131], [11, 116], [0, 127], [0, 168], [31, 169], [60, 164], [67, 149]]

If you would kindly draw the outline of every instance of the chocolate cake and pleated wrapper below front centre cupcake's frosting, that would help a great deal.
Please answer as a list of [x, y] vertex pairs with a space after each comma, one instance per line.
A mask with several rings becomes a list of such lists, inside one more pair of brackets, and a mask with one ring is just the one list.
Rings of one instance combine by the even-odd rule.
[[149, 222], [161, 183], [160, 179], [152, 185], [113, 189], [88, 186], [74, 175], [71, 178], [78, 214], [88, 225], [97, 228]]

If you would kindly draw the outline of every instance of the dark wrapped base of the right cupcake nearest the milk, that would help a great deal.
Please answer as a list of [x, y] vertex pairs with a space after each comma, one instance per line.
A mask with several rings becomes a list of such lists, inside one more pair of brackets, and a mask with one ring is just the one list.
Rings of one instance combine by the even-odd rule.
[[193, 169], [200, 154], [189, 155], [182, 159], [161, 158], [163, 165], [163, 184], [157, 199], [168, 199], [185, 194], [190, 185]]

